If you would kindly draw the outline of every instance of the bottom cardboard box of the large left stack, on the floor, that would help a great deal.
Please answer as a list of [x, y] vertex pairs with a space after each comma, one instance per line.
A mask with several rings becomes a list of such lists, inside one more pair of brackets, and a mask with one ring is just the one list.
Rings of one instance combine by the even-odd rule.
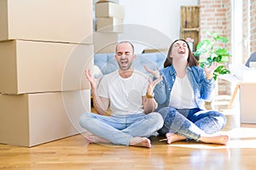
[[0, 143], [34, 146], [85, 130], [82, 113], [90, 111], [90, 90], [0, 94]]

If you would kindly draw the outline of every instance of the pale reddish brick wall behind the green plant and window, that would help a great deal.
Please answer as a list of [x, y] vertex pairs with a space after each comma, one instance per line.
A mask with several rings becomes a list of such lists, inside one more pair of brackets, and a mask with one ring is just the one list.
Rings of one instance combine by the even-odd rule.
[[[242, 63], [245, 64], [250, 54], [256, 51], [256, 0], [242, 0], [242, 2]], [[218, 32], [229, 38], [227, 48], [232, 54], [231, 0], [200, 0], [199, 3], [201, 6], [201, 39], [207, 38], [205, 31]], [[219, 81], [218, 94], [230, 94], [230, 83]]]

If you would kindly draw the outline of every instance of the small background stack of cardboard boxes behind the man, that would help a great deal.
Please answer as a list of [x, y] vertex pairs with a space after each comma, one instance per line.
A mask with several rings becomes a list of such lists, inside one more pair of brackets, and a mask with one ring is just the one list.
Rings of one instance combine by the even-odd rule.
[[119, 33], [123, 32], [125, 8], [114, 0], [99, 0], [95, 7], [95, 53], [114, 53]]

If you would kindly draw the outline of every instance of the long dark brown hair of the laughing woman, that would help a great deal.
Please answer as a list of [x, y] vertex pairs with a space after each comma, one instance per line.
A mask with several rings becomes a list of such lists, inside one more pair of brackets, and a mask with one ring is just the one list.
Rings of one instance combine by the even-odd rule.
[[[177, 40], [175, 40], [174, 42], [172, 42], [172, 44], [171, 44], [171, 46], [170, 46], [170, 48], [169, 48], [169, 50], [168, 50], [168, 54], [167, 54], [167, 56], [166, 56], [166, 61], [165, 61], [165, 63], [164, 63], [164, 68], [166, 68], [167, 66], [172, 65], [172, 58], [170, 57], [170, 55], [171, 55], [171, 53], [172, 53], [173, 45], [174, 45], [174, 43], [177, 42], [177, 41], [183, 41], [183, 42], [185, 42], [185, 43], [187, 44], [188, 48], [189, 48], [188, 42], [186, 42], [186, 41], [183, 40], [183, 39], [177, 39]], [[190, 67], [191, 67], [191, 66], [198, 66], [198, 65], [199, 65], [197, 59], [195, 59], [195, 56], [194, 56], [194, 54], [192, 54], [190, 48], [189, 48], [189, 57], [188, 57], [188, 60], [187, 60], [187, 61], [188, 61], [188, 65], [189, 65]]]

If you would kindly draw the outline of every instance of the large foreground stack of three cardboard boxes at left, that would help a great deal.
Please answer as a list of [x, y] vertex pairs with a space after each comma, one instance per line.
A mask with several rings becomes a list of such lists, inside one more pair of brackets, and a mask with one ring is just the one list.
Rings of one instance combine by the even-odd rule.
[[0, 1], [0, 143], [33, 146], [84, 131], [93, 67], [92, 1]]

